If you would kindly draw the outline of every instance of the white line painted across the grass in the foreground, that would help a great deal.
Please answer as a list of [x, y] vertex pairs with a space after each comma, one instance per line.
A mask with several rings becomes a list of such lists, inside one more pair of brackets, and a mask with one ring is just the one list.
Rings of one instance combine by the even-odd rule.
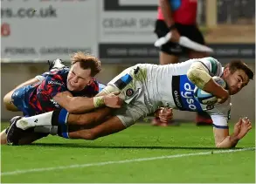
[[[248, 151], [248, 150], [255, 150], [255, 147], [247, 147], [247, 148], [242, 148], [242, 149], [219, 150], [219, 151], [213, 151], [213, 154], [244, 152], [244, 151]], [[199, 152], [199, 153], [174, 154], [174, 155], [169, 155], [169, 156], [148, 157], [148, 158], [133, 159], [133, 160], [117, 160], [117, 161], [105, 161], [105, 162], [90, 163], [90, 164], [75, 164], [75, 165], [62, 166], [62, 167], [32, 168], [32, 169], [26, 169], [26, 170], [3, 172], [3, 173], [1, 173], [1, 175], [3, 176], [3, 175], [14, 175], [14, 174], [27, 174], [27, 173], [36, 173], [36, 172], [43, 172], [43, 171], [68, 169], [68, 168], [105, 166], [105, 165], [109, 165], [109, 164], [122, 164], [122, 163], [137, 162], [137, 161], [172, 159], [172, 158], [179, 158], [179, 157], [207, 155], [207, 154], [211, 154], [211, 153], [212, 153], [212, 151], [211, 152]]]

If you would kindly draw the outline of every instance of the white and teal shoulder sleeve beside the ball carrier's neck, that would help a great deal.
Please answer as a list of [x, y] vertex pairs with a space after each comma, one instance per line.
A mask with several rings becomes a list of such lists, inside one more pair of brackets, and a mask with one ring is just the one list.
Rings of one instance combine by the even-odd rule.
[[216, 58], [200, 58], [197, 60], [202, 63], [207, 69], [211, 77], [218, 76], [220, 77], [222, 74], [222, 65], [218, 62]]

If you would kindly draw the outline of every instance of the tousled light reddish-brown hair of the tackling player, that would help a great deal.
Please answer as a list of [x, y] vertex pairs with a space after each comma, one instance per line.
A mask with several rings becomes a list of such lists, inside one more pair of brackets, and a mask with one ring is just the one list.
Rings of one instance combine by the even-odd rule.
[[100, 60], [82, 51], [75, 52], [71, 57], [71, 64], [79, 62], [82, 69], [91, 69], [91, 76], [94, 77], [101, 70]]

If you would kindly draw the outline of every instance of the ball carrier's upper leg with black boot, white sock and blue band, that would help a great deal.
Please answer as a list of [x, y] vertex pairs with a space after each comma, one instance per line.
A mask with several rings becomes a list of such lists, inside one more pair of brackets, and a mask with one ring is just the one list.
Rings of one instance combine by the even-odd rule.
[[[35, 128], [34, 130], [37, 130], [37, 133], [50, 133], [51, 129], [49, 127], [55, 126], [58, 126], [58, 129], [54, 132], [55, 134], [58, 133], [60, 137], [69, 139], [69, 123], [70, 126], [97, 126], [103, 119], [109, 116], [109, 113], [110, 109], [108, 107], [82, 115], [69, 114], [65, 109], [62, 109], [61, 111], [46, 112], [37, 116], [18, 119], [10, 126], [7, 133], [7, 142], [11, 145], [18, 145], [19, 140], [24, 138], [27, 130]], [[52, 132], [51, 134], [54, 133]]]

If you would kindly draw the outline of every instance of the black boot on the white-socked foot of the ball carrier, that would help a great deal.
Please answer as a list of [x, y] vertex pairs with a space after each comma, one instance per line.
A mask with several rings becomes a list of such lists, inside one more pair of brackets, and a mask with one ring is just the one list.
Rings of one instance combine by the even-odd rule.
[[18, 128], [16, 126], [17, 120], [21, 119], [21, 116], [16, 116], [12, 119], [10, 119], [10, 127], [7, 132], [7, 144], [12, 145], [12, 146], [17, 146], [18, 145], [18, 140], [22, 136], [24, 130]]

